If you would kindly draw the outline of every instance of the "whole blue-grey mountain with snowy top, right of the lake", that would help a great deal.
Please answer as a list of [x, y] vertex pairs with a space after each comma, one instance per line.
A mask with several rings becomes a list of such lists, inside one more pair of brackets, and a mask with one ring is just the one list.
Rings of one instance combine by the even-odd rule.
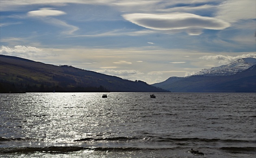
[[204, 69], [192, 76], [170, 77], [152, 84], [172, 92], [256, 92], [256, 59]]

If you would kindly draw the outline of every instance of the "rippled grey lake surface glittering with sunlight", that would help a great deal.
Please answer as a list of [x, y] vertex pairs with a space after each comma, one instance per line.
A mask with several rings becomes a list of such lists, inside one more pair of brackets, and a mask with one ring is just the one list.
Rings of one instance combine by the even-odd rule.
[[0, 157], [256, 156], [256, 93], [102, 94], [0, 94]]

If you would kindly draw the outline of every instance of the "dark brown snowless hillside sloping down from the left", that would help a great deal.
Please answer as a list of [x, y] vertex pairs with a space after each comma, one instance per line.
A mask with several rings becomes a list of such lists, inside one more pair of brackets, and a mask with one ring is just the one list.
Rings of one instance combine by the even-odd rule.
[[0, 93], [167, 92], [143, 81], [124, 80], [71, 65], [50, 65], [0, 55]]

